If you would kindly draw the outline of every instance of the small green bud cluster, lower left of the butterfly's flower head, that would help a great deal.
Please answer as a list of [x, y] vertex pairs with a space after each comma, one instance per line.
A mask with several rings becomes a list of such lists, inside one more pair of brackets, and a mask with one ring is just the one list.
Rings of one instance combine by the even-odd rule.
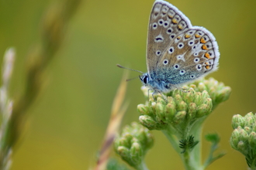
[[137, 122], [126, 125], [114, 147], [116, 153], [134, 168], [144, 161], [146, 152], [153, 146], [154, 138], [147, 128]]

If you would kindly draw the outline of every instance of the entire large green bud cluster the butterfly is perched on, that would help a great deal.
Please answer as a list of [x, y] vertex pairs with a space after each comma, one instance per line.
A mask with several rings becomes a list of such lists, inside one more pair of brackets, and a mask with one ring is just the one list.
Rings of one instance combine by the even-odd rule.
[[149, 100], [137, 106], [141, 114], [140, 124], [150, 130], [164, 130], [171, 125], [178, 134], [184, 136], [182, 133], [188, 133], [195, 121], [212, 112], [213, 104], [219, 104], [230, 96], [230, 87], [225, 87], [213, 78], [197, 80], [184, 88], [185, 91], [177, 89], [167, 93], [166, 99], [157, 94], [155, 101], [148, 94], [148, 89], [142, 87]]

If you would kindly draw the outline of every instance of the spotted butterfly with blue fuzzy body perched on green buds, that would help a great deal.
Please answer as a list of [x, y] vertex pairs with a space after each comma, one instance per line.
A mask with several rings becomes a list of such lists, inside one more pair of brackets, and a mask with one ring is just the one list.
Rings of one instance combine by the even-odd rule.
[[144, 86], [154, 91], [153, 97], [154, 93], [181, 89], [185, 83], [216, 71], [219, 59], [211, 32], [192, 26], [174, 5], [163, 0], [154, 2], [147, 35], [147, 73], [139, 76]]

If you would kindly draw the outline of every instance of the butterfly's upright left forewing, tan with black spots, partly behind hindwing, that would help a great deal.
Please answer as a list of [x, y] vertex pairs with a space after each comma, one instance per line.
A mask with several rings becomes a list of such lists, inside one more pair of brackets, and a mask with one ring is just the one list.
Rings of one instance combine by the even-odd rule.
[[170, 46], [176, 36], [191, 26], [190, 22], [182, 19], [182, 15], [177, 14], [177, 11], [178, 9], [168, 2], [161, 0], [154, 2], [147, 35], [147, 73], [149, 75], [157, 70], [157, 64], [163, 56], [164, 49]]

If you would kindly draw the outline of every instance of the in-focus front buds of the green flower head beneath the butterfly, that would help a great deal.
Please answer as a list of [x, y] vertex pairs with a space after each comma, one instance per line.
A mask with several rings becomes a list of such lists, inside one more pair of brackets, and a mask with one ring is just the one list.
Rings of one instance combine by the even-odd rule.
[[149, 104], [139, 104], [140, 124], [150, 130], [163, 130], [168, 125], [177, 131], [185, 131], [196, 119], [207, 116], [213, 107], [212, 100], [206, 90], [196, 92], [190, 88], [186, 93], [175, 90], [167, 97], [158, 96], [157, 101], [150, 97]]

